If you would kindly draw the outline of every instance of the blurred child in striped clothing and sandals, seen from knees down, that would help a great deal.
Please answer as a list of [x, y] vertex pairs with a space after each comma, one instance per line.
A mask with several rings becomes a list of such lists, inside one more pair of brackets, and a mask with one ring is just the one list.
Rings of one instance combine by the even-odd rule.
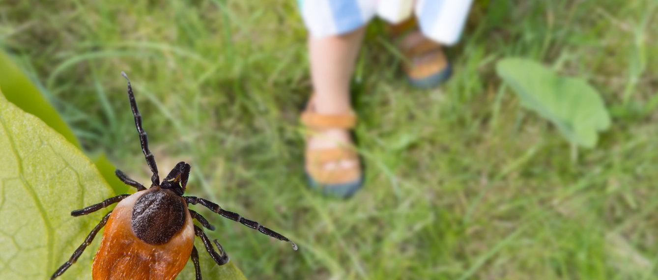
[[[309, 30], [309, 60], [314, 93], [301, 114], [313, 133], [307, 137], [305, 172], [309, 184], [326, 195], [349, 197], [363, 185], [363, 166], [349, 129], [356, 114], [349, 82], [365, 24], [376, 14], [399, 37], [411, 85], [428, 88], [445, 81], [451, 66], [440, 42], [457, 41], [472, 0], [299, 0]], [[415, 14], [416, 20], [407, 20]], [[418, 30], [418, 27], [420, 30]], [[411, 30], [411, 31], [409, 31]], [[409, 31], [407, 34], [405, 32]]]

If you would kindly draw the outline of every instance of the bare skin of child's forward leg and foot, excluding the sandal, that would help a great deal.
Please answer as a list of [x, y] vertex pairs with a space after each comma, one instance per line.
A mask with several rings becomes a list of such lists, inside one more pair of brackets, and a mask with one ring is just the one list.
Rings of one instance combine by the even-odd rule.
[[[318, 114], [345, 115], [352, 110], [349, 83], [363, 41], [364, 28], [343, 35], [316, 39], [309, 37], [311, 80], [315, 91], [315, 111]], [[324, 129], [309, 139], [309, 149], [328, 149], [351, 143], [349, 131]], [[350, 168], [359, 162], [342, 160], [330, 162], [327, 169]]]

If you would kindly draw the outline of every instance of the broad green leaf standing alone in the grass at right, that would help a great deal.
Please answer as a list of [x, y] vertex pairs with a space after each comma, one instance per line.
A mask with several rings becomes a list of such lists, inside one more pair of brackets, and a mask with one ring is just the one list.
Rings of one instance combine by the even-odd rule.
[[609, 128], [610, 116], [603, 100], [584, 80], [559, 76], [524, 58], [499, 60], [496, 70], [523, 106], [553, 122], [570, 143], [595, 147], [598, 131]]

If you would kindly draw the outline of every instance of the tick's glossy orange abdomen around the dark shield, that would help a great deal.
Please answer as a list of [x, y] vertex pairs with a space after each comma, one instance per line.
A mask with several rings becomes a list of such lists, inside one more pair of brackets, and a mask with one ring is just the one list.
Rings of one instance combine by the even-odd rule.
[[174, 279], [184, 268], [194, 245], [194, 227], [187, 206], [185, 225], [168, 243], [145, 243], [132, 229], [135, 202], [155, 189], [139, 191], [116, 204], [93, 258], [93, 279]]

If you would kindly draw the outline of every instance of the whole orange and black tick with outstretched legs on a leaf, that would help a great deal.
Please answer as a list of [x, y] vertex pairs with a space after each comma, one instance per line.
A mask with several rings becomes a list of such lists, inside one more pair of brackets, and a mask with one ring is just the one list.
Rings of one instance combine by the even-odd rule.
[[[121, 76], [128, 80], [124, 72], [121, 72]], [[51, 279], [62, 275], [74, 264], [103, 227], [105, 231], [101, 246], [93, 258], [91, 268], [93, 279], [174, 279], [184, 268], [188, 258], [191, 258], [194, 264], [196, 279], [201, 279], [199, 252], [194, 246], [195, 236], [201, 238], [203, 246], [218, 266], [228, 262], [228, 255], [216, 239], [211, 242], [203, 229], [192, 222], [195, 219], [201, 226], [211, 231], [215, 230], [215, 227], [201, 214], [189, 209], [188, 204], [201, 204], [224, 218], [240, 222], [281, 241], [288, 241], [293, 250], [297, 250], [297, 245], [290, 239], [263, 227], [258, 222], [242, 218], [238, 213], [226, 211], [215, 202], [183, 196], [190, 176], [190, 164], [178, 162], [161, 182], [155, 158], [149, 151], [146, 132], [141, 126], [141, 114], [137, 108], [130, 80], [128, 80], [128, 99], [135, 117], [141, 151], [153, 172], [151, 187], [147, 189], [141, 183], [130, 179], [121, 170], [116, 170], [114, 172], [116, 177], [126, 185], [135, 187], [137, 192], [132, 195], [107, 198], [101, 203], [71, 212], [71, 216], [83, 216], [118, 202], [114, 210], [107, 213], [91, 230], [71, 258], [53, 273]]]

